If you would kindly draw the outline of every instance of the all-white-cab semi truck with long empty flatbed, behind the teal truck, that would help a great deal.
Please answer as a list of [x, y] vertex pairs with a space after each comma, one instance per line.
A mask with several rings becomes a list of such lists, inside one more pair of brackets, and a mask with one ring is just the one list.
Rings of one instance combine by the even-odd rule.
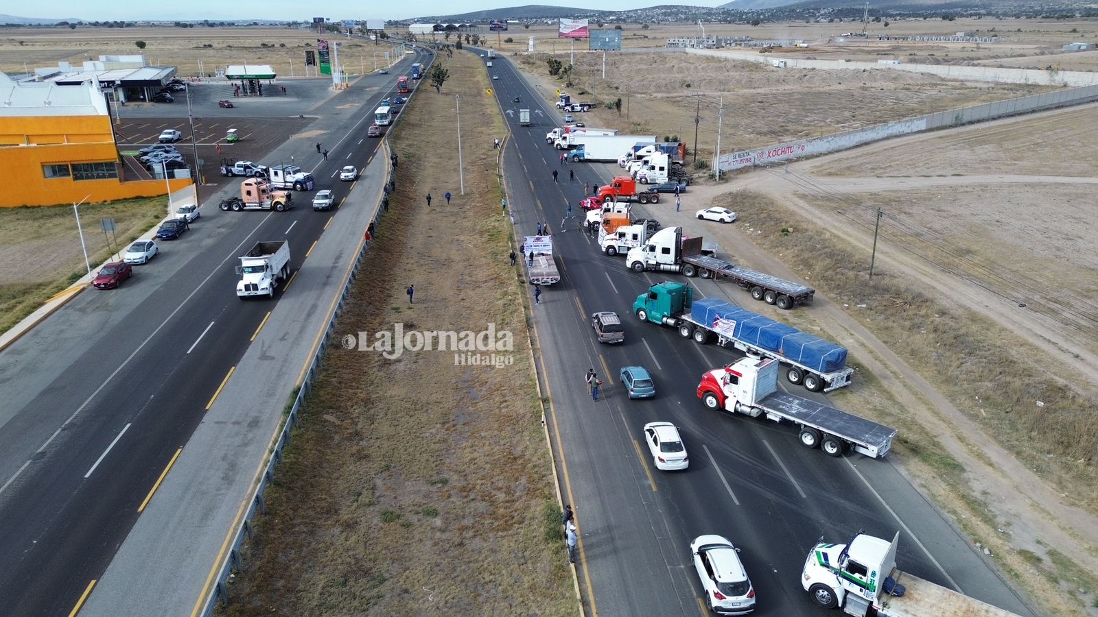
[[716, 279], [726, 277], [751, 292], [751, 298], [778, 308], [789, 310], [808, 304], [816, 290], [793, 281], [758, 272], [729, 261], [702, 255], [702, 238], [683, 239], [682, 227], [660, 229], [645, 246], [626, 256], [626, 266], [634, 272], [657, 270], [681, 272], [686, 277]]

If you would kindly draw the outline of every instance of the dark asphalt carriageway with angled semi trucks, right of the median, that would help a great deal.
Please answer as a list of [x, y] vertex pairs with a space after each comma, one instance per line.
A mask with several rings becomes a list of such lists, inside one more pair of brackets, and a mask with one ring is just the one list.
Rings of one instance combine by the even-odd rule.
[[[545, 142], [545, 134], [560, 125], [560, 115], [544, 104], [556, 94], [530, 88], [505, 59], [494, 65], [488, 70], [500, 76], [492, 83], [514, 135], [504, 175], [519, 235], [534, 235], [538, 221], [556, 231], [553, 251], [562, 280], [542, 288], [534, 312], [544, 386], [552, 401], [550, 430], [564, 462], [559, 472], [581, 532], [578, 568], [585, 603], [600, 615], [704, 614], [690, 542], [699, 535], [717, 534], [741, 549], [758, 594], [755, 615], [827, 615], [830, 612], [815, 607], [800, 587], [800, 570], [811, 547], [821, 537], [845, 542], [864, 530], [890, 539], [898, 530], [897, 562], [903, 570], [1020, 615], [1032, 614], [888, 460], [856, 453], [833, 459], [802, 447], [792, 426], [702, 407], [696, 395], [702, 373], [739, 356], [638, 322], [632, 302], [662, 280], [688, 282], [695, 296], [744, 304], [750, 296], [728, 282], [637, 274], [625, 267], [624, 257], [603, 255], [594, 238], [578, 229], [583, 216], [578, 203], [584, 181], [597, 177], [605, 183], [619, 168], [561, 165], [559, 152]], [[516, 97], [519, 103], [514, 102]], [[533, 111], [529, 127], [518, 125], [518, 109]], [[559, 171], [556, 183], [553, 169]], [[576, 181], [568, 180], [569, 169], [575, 171]], [[703, 204], [692, 202], [688, 192], [683, 195], [683, 213], [675, 213], [673, 197], [666, 197], [659, 204], [635, 206], [635, 212], [664, 226], [684, 226], [692, 237], [721, 239], [719, 224], [691, 218], [686, 211]], [[578, 218], [565, 221], [562, 231], [559, 225], [568, 203]], [[623, 316], [624, 345], [595, 341], [590, 325], [595, 311]], [[630, 364], [652, 373], [654, 400], [628, 400], [618, 369]], [[605, 381], [598, 402], [592, 401], [584, 384], [589, 368]], [[786, 389], [827, 401], [803, 388]], [[687, 471], [653, 467], [641, 428], [656, 420], [680, 427], [690, 455]]]

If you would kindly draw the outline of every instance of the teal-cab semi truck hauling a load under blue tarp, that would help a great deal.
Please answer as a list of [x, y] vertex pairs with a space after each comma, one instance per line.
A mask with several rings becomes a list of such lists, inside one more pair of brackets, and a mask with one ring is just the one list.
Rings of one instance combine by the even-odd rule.
[[[657, 232], [659, 234], [659, 232]], [[749, 356], [784, 364], [785, 378], [809, 392], [850, 384], [847, 348], [716, 298], [695, 301], [693, 288], [664, 281], [637, 296], [632, 312], [641, 322], [676, 328], [698, 345], [713, 339]]]

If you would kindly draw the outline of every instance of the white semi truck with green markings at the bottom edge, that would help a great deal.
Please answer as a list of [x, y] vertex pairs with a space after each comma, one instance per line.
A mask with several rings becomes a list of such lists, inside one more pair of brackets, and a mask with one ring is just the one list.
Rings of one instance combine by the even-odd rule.
[[[822, 538], [820, 538], [822, 540]], [[892, 542], [861, 531], [845, 545], [813, 547], [800, 586], [817, 605], [856, 617], [1010, 617], [1004, 610], [896, 568], [899, 531]], [[1015, 616], [1017, 617], [1017, 616]]]

